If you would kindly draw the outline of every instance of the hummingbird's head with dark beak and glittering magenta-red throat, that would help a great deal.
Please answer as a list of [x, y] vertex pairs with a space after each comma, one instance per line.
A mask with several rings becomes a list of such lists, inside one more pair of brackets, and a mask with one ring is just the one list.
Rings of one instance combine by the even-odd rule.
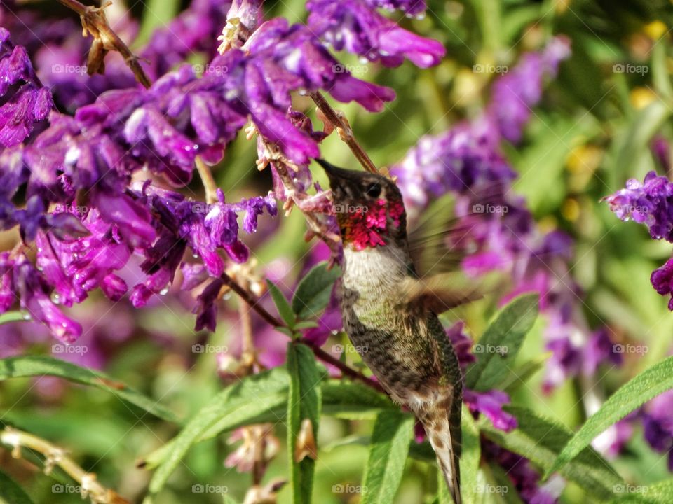
[[344, 246], [363, 250], [406, 238], [402, 193], [385, 176], [338, 168], [316, 160], [327, 172], [334, 213]]

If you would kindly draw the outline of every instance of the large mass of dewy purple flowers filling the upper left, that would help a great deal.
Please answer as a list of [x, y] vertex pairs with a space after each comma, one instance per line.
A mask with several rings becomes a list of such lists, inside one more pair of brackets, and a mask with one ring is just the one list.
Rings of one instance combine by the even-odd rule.
[[[379, 26], [369, 33], [371, 59], [397, 65], [409, 57], [428, 66], [444, 54], [439, 43], [400, 29], [376, 12], [387, 8], [420, 15], [423, 2], [367, 1], [362, 8]], [[57, 22], [53, 29], [41, 22], [45, 49], [26, 29], [34, 13], [7, 3], [0, 15], [3, 21], [14, 20], [11, 27], [30, 48], [12, 45], [8, 31], [0, 31], [0, 142], [5, 147], [0, 152], [0, 229], [18, 227], [24, 246], [36, 244], [32, 269], [21, 250], [6, 258], [7, 301], [1, 308], [9, 309], [18, 297], [30, 316], [66, 342], [81, 330], [61, 323], [56, 302], [72, 307], [100, 288], [113, 301], [130, 291], [130, 302], [142, 307], [151, 295], [168, 289], [179, 267], [183, 288], [198, 288], [196, 327], [214, 329], [222, 291], [218, 277], [227, 262], [244, 262], [249, 255], [238, 238], [237, 219], [242, 216], [245, 232], [254, 232], [259, 215], [276, 214], [276, 202], [268, 195], [229, 203], [220, 192], [217, 202], [205, 205], [166, 189], [165, 182], [186, 186], [196, 162], [222, 160], [226, 145], [252, 121], [260, 164], [280, 153], [294, 167], [292, 173], [282, 172], [272, 162], [273, 194], [304, 211], [324, 211], [327, 193], [312, 184], [308, 162], [318, 156], [325, 133], [314, 132], [311, 121], [292, 110], [292, 94], [322, 90], [368, 111], [381, 110], [395, 97], [393, 90], [344, 71], [323, 45], [333, 29], [316, 35], [313, 27], [290, 25], [283, 18], [263, 22], [259, 1], [193, 0], [140, 49], [142, 64], [155, 80], [147, 90], [131, 80], [118, 55], [109, 55], [106, 75], [86, 76], [89, 42], [75, 37], [74, 21]], [[314, 20], [316, 15], [317, 10], [311, 12]], [[137, 23], [127, 13], [111, 10], [109, 19], [127, 40], [137, 34]], [[222, 52], [210, 59], [223, 26]], [[341, 30], [346, 33], [345, 27]], [[195, 54], [210, 59], [203, 72], [194, 65], [179, 66]], [[31, 55], [54, 94], [41, 85]], [[55, 71], [69, 66], [79, 71]], [[315, 195], [307, 193], [312, 187]], [[24, 194], [25, 204], [17, 204], [14, 200]], [[322, 221], [326, 228], [333, 224], [328, 216]], [[188, 249], [196, 264], [184, 262]], [[132, 277], [128, 271], [138, 257], [141, 273]], [[14, 264], [21, 265], [20, 276]], [[333, 318], [325, 319], [324, 328], [339, 323]]]

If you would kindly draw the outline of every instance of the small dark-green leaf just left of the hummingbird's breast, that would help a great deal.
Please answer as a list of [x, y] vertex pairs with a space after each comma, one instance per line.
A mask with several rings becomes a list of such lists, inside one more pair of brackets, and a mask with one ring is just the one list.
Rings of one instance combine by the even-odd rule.
[[327, 270], [327, 262], [320, 262], [304, 276], [292, 298], [292, 310], [297, 318], [314, 318], [320, 315], [332, 295], [332, 286], [341, 276], [341, 269]]

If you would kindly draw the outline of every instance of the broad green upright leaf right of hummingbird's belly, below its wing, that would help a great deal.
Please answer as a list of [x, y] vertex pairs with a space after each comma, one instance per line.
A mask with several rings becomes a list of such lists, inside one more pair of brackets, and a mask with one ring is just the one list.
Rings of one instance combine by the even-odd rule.
[[525, 294], [505, 306], [484, 331], [473, 353], [477, 361], [468, 368], [468, 388], [487, 391], [498, 388], [514, 366], [524, 337], [538, 316], [538, 295]]

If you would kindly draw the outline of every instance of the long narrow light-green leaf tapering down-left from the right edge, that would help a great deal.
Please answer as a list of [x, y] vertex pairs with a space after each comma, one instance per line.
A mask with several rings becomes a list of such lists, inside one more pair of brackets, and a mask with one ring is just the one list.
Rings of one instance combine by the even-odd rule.
[[547, 470], [545, 477], [549, 477], [552, 472], [569, 463], [580, 451], [589, 446], [594, 437], [613, 423], [670, 388], [673, 388], [673, 357], [641, 372], [613, 393], [601, 409], [585, 421]]

